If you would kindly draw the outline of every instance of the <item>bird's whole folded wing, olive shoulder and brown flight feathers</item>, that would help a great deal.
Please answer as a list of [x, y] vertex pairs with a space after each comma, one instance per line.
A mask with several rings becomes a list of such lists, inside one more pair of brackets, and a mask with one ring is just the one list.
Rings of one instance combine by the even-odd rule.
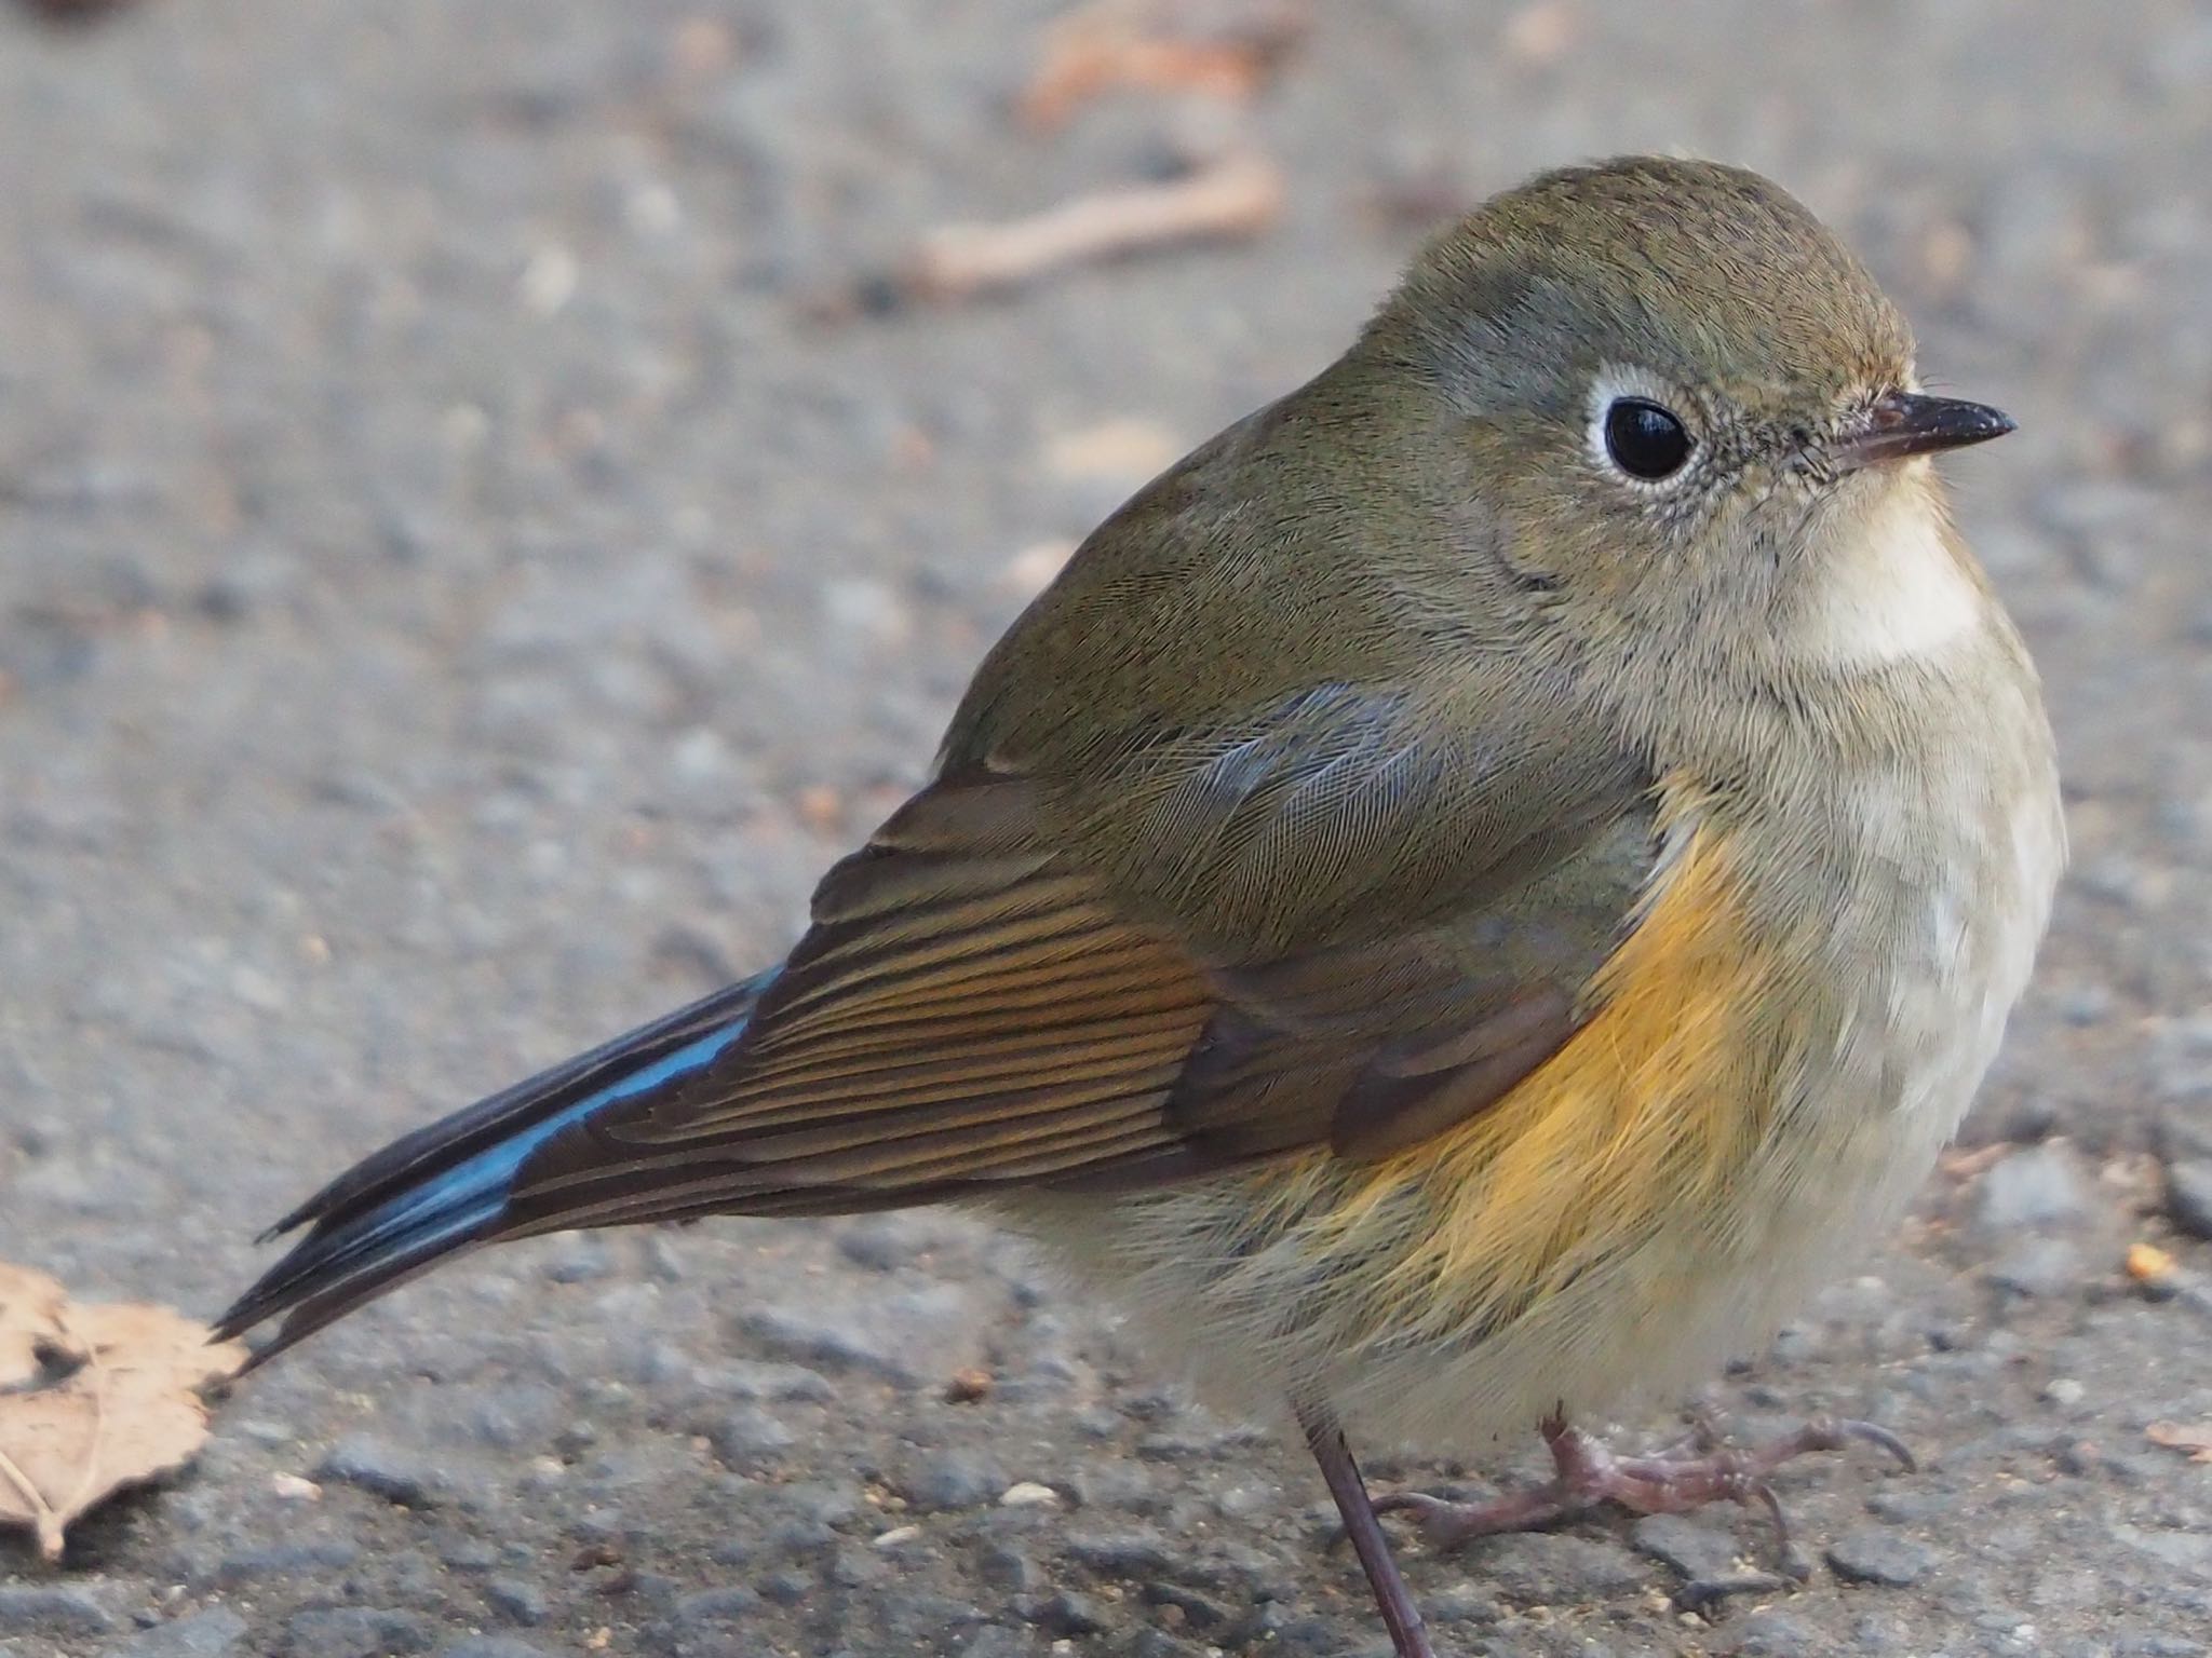
[[814, 895], [743, 1035], [522, 1163], [502, 1231], [1374, 1156], [1555, 1052], [1648, 878], [1648, 787], [1323, 685], [949, 769]]

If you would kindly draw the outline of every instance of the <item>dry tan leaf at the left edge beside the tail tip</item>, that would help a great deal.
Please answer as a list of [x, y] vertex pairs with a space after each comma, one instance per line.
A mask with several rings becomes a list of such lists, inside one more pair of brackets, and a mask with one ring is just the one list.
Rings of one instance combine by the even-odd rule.
[[0, 1262], [0, 1525], [62, 1559], [71, 1521], [184, 1463], [208, 1437], [199, 1391], [243, 1342], [150, 1302], [77, 1307], [44, 1273]]

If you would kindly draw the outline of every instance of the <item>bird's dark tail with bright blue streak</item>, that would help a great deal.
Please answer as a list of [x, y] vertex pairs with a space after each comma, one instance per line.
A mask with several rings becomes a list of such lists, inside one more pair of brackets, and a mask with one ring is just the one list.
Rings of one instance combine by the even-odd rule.
[[717, 990], [363, 1158], [263, 1234], [307, 1227], [215, 1322], [217, 1340], [283, 1315], [252, 1368], [447, 1256], [509, 1236], [509, 1192], [540, 1145], [714, 1063], [772, 979]]

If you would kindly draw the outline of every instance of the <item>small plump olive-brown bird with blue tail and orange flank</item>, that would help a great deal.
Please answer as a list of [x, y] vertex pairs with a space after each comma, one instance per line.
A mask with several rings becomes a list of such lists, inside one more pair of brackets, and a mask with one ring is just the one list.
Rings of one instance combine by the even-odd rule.
[[[1891, 1444], [1573, 1424], [1765, 1340], [1997, 1050], [2064, 825], [1929, 458], [2011, 429], [1752, 172], [1491, 199], [1084, 542], [781, 966], [341, 1174], [219, 1331], [562, 1227], [969, 1205], [1298, 1426], [1402, 1658], [1378, 1510]], [[1557, 1479], [1489, 1508], [1347, 1448], [1537, 1424]]]

